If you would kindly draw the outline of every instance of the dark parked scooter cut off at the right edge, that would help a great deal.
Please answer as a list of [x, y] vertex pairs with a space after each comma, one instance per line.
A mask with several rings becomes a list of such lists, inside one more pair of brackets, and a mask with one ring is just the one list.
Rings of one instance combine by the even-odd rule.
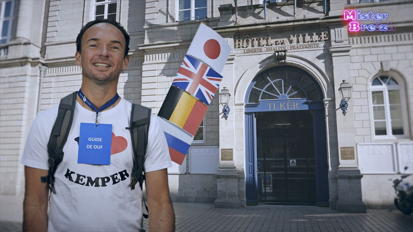
[[[405, 172], [408, 169], [404, 168]], [[412, 174], [402, 174], [400, 179], [393, 180], [393, 187], [396, 190], [396, 198], [394, 198], [394, 205], [402, 213], [409, 215], [413, 211], [413, 185], [408, 181], [403, 181], [404, 178]]]

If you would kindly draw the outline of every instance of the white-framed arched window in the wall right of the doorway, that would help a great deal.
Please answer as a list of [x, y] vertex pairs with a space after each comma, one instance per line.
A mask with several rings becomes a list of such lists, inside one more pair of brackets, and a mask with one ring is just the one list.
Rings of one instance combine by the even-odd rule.
[[370, 86], [374, 135], [378, 138], [406, 135], [401, 83], [390, 75], [380, 75]]

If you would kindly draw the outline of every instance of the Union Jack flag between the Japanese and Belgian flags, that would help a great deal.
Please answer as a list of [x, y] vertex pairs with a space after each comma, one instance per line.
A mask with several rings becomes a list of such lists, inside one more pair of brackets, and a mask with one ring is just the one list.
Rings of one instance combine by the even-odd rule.
[[222, 76], [207, 64], [185, 55], [172, 85], [189, 92], [209, 105], [221, 80]]

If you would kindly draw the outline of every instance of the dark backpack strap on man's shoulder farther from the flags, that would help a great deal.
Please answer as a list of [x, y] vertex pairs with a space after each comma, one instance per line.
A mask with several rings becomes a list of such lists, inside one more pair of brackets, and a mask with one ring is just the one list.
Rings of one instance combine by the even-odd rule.
[[76, 106], [77, 91], [60, 100], [58, 116], [50, 134], [47, 151], [49, 153], [49, 174], [42, 176], [41, 181], [47, 182], [49, 188], [56, 194], [54, 181], [58, 165], [63, 160], [63, 146], [66, 144], [70, 128], [72, 126], [73, 115]]

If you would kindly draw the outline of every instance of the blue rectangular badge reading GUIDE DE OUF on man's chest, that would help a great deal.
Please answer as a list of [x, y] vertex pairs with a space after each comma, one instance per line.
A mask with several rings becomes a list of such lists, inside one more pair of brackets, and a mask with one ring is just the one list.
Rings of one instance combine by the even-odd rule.
[[79, 164], [111, 164], [112, 124], [80, 123]]

